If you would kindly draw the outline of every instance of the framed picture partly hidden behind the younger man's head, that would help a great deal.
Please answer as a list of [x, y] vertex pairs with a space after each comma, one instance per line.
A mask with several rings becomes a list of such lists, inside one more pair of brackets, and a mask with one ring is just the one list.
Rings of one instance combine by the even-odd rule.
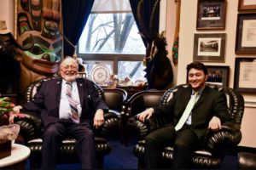
[[230, 66], [207, 65], [207, 70], [208, 83], [229, 86]]

